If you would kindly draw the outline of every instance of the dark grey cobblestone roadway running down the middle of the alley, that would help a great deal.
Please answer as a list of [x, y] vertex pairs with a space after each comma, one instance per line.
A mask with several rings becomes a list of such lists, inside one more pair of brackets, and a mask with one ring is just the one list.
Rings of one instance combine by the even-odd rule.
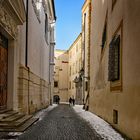
[[19, 140], [101, 140], [69, 105], [61, 104], [31, 126]]

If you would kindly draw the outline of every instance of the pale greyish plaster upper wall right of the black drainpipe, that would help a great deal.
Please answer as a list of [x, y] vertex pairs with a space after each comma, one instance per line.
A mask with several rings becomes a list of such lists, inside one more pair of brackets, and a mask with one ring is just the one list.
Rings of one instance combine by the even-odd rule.
[[31, 71], [48, 81], [49, 44], [45, 41], [45, 14], [41, 6], [40, 23], [29, 1], [28, 65]]

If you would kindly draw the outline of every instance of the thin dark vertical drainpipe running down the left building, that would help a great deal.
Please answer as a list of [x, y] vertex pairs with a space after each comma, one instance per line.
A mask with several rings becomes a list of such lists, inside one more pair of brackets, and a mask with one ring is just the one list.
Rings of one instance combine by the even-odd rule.
[[29, 0], [26, 0], [26, 46], [25, 46], [25, 66], [28, 69], [28, 114], [30, 114], [30, 95], [29, 95], [29, 76], [30, 70], [28, 67], [28, 17], [29, 17]]

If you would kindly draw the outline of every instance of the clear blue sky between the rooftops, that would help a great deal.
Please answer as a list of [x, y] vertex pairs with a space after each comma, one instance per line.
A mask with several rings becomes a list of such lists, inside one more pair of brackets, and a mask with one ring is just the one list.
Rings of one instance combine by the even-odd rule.
[[56, 49], [67, 50], [81, 32], [81, 9], [85, 0], [55, 0]]

